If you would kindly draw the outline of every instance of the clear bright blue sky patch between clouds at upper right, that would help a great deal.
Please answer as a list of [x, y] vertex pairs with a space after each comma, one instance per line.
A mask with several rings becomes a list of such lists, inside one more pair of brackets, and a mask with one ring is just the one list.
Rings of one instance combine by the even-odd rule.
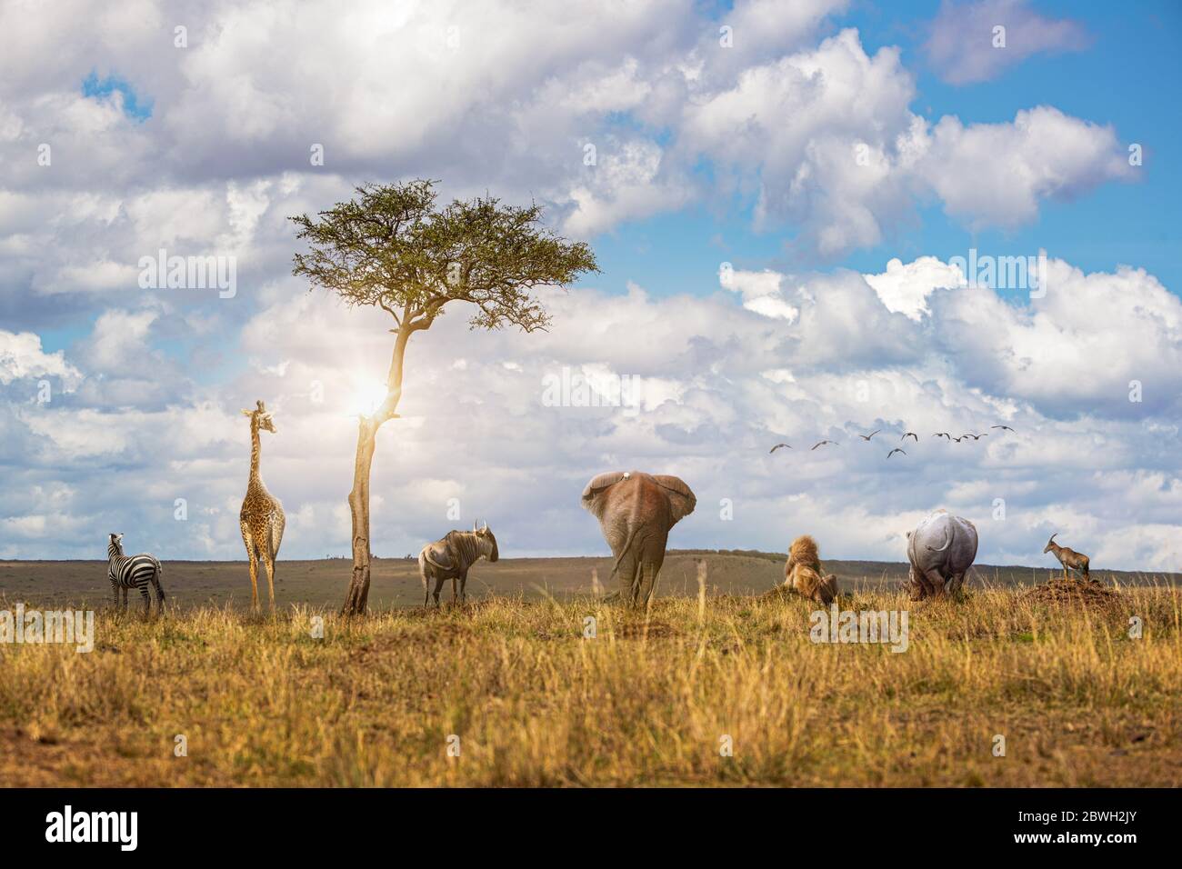
[[[729, 7], [727, 4], [725, 7]], [[1013, 121], [1019, 109], [1041, 103], [1111, 124], [1124, 143], [1141, 143], [1139, 183], [1109, 184], [1078, 200], [1048, 202], [1038, 221], [1013, 229], [972, 232], [949, 219], [941, 206], [918, 210], [918, 221], [901, 227], [889, 241], [859, 249], [827, 266], [881, 271], [891, 257], [965, 255], [979, 251], [1045, 248], [1087, 271], [1131, 264], [1148, 268], [1174, 292], [1182, 286], [1182, 6], [1176, 2], [1046, 2], [1048, 17], [1078, 20], [1091, 46], [1053, 56], [1034, 56], [994, 80], [969, 85], [943, 83], [923, 59], [926, 26], [940, 2], [853, 4], [834, 17], [830, 31], [857, 27], [868, 52], [898, 46], [916, 78], [913, 110], [928, 117], [955, 115], [966, 123]], [[725, 14], [719, 20], [725, 20]], [[782, 231], [755, 233], [751, 207], [710, 202], [684, 213], [630, 222], [596, 238], [608, 286], [635, 281], [657, 293], [717, 290], [714, 274], [722, 259], [745, 268], [788, 271], [818, 266], [784, 249]], [[720, 213], [715, 213], [715, 209]], [[791, 232], [791, 227], [788, 227]], [[720, 247], [719, 242], [725, 246]], [[676, 257], [669, 257], [676, 251]]]

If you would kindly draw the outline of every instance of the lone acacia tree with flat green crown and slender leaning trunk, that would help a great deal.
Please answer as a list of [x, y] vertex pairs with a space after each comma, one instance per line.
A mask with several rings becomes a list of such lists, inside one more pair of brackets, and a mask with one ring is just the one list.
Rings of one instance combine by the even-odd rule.
[[550, 317], [534, 288], [566, 287], [579, 274], [599, 271], [586, 244], [541, 226], [539, 206], [506, 206], [485, 196], [436, 208], [435, 183], [363, 184], [356, 199], [316, 219], [290, 218], [309, 244], [307, 253], [294, 255], [292, 274], [350, 306], [381, 307], [396, 325], [385, 398], [357, 424], [349, 493], [353, 572], [344, 615], [363, 614], [369, 598], [370, 466], [378, 428], [398, 416], [410, 336], [430, 329], [449, 301], [473, 306], [472, 329], [545, 329]]

